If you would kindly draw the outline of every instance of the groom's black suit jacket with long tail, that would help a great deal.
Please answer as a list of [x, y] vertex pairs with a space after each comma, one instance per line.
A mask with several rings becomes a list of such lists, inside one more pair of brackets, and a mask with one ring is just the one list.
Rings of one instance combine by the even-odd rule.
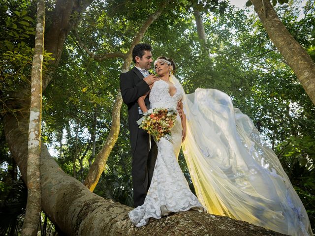
[[[133, 155], [136, 144], [139, 125], [136, 121], [140, 118], [138, 110], [138, 98], [150, 90], [149, 85], [143, 80], [144, 76], [136, 68], [120, 75], [120, 90], [124, 103], [128, 107], [128, 124], [130, 130], [131, 154]], [[150, 107], [149, 96], [144, 100], [146, 107]]]

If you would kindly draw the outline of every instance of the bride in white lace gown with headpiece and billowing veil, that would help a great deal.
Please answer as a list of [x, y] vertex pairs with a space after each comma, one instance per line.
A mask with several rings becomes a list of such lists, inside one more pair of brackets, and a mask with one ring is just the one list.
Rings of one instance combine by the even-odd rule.
[[[152, 108], [175, 108], [182, 100], [183, 119], [177, 117], [170, 141], [162, 138], [157, 143], [148, 195], [142, 206], [129, 212], [133, 224], [140, 227], [150, 217], [206, 208], [209, 213], [282, 234], [313, 236], [299, 196], [252, 120], [217, 89], [196, 89], [185, 95], [169, 73], [172, 64], [163, 57], [155, 62], [161, 80], [151, 89], [150, 102]], [[198, 199], [190, 192], [177, 162], [185, 138], [182, 148]]]

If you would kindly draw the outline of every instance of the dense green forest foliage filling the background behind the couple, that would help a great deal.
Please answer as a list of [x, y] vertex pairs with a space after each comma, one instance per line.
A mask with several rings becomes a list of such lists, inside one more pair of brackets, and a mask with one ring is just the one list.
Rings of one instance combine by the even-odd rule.
[[[232, 97], [235, 107], [252, 118], [280, 158], [314, 229], [314, 104], [269, 40], [252, 8], [239, 10], [224, 1], [204, 2], [207, 4], [197, 7], [203, 15], [206, 47], [201, 46], [196, 32], [191, 8], [196, 2], [188, 0], [169, 4], [142, 41], [153, 46], [154, 58], [163, 55], [174, 59], [177, 77], [186, 92], [196, 88], [220, 89]], [[302, 10], [300, 4], [291, 0], [288, 4], [275, 5], [284, 25], [315, 59], [315, 3], [308, 0]], [[93, 1], [76, 30], [96, 55], [126, 53], [140, 24], [157, 5], [158, 1]], [[47, 1], [47, 29], [52, 24], [53, 6], [53, 1]], [[30, 81], [34, 12], [34, 3], [27, 0], [0, 4], [1, 113], [7, 112], [8, 94], [22, 82]], [[50, 69], [47, 66], [50, 59], [46, 53], [46, 72]], [[70, 32], [54, 79], [44, 91], [42, 138], [63, 170], [80, 181], [84, 181], [110, 131], [122, 64], [123, 59], [119, 58], [92, 59], [79, 47], [75, 33]], [[123, 105], [120, 135], [95, 193], [132, 206], [128, 132], [126, 105]], [[21, 200], [23, 188], [16, 183], [20, 177], [5, 142], [2, 124], [0, 144], [0, 211], [3, 212], [8, 204]], [[179, 161], [193, 188], [182, 153]], [[14, 216], [16, 222], [19, 214]]]

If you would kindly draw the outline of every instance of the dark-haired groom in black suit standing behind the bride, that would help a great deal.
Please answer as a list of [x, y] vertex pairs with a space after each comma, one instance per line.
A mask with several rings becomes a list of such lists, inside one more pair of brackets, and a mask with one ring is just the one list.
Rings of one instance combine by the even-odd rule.
[[[144, 203], [158, 154], [158, 147], [153, 138], [150, 138], [147, 131], [139, 128], [136, 123], [143, 116], [137, 102], [138, 98], [150, 91], [153, 83], [159, 80], [157, 76], [147, 71], [153, 61], [151, 51], [152, 47], [149, 44], [140, 43], [135, 45], [132, 50], [132, 59], [135, 66], [132, 70], [120, 75], [120, 89], [123, 101], [128, 107], [134, 207], [141, 206]], [[145, 104], [149, 109], [149, 96], [145, 98]]]

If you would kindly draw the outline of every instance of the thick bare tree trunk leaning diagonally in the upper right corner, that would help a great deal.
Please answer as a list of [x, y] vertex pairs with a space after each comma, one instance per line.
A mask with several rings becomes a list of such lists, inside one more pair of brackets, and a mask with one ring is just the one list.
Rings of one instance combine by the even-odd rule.
[[292, 68], [301, 85], [315, 104], [314, 61], [284, 27], [269, 0], [251, 1], [271, 41]]

